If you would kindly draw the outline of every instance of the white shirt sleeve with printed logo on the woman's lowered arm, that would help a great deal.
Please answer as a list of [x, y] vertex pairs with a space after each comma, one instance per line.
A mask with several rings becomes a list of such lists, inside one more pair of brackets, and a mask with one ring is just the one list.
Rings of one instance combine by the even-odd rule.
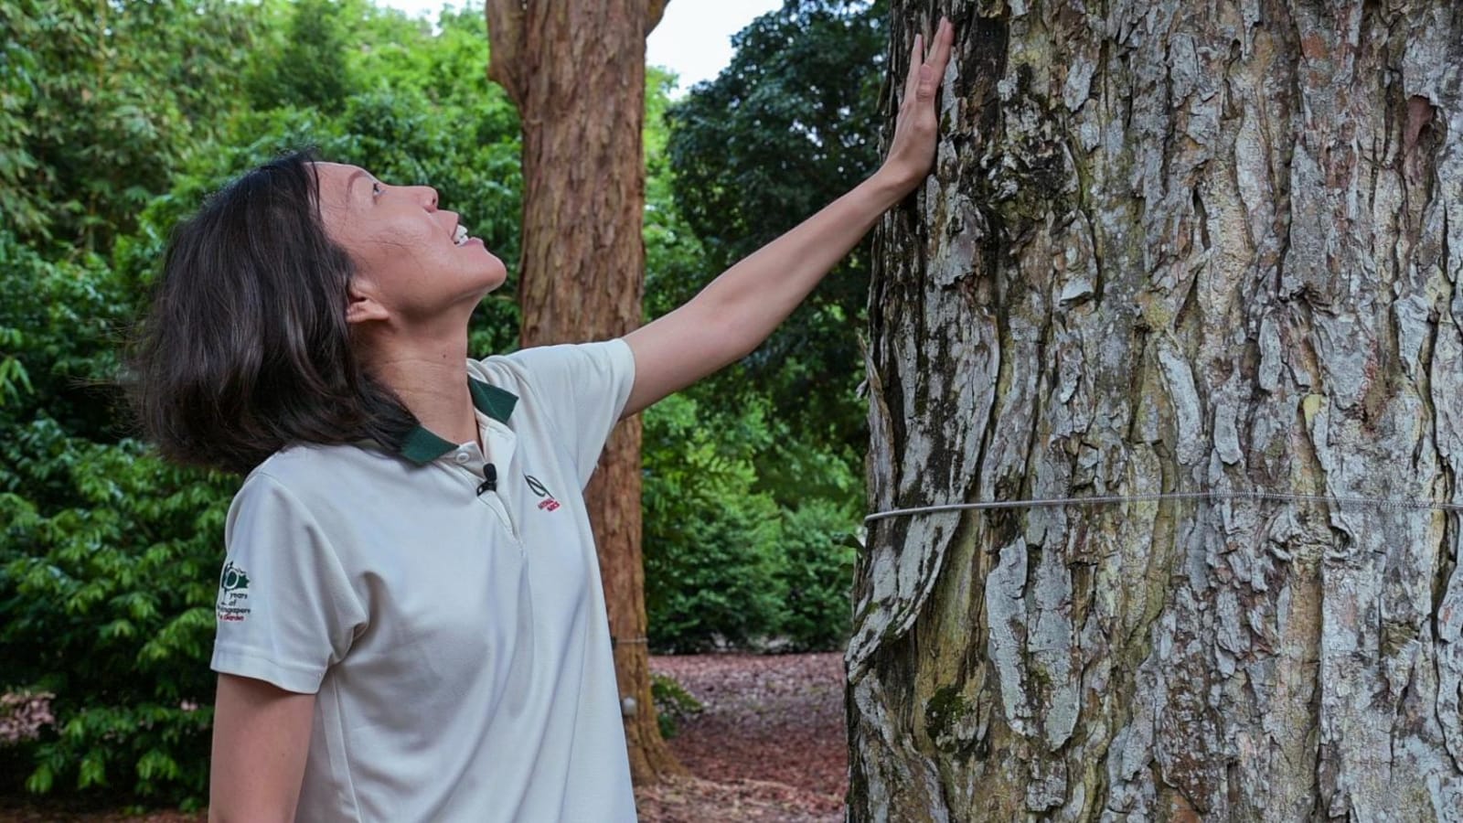
[[313, 694], [366, 609], [329, 539], [278, 480], [255, 473], [224, 527], [214, 671]]

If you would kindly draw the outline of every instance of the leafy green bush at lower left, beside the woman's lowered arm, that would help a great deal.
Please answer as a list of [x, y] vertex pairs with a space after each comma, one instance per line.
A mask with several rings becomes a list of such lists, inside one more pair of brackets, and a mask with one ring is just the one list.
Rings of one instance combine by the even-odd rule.
[[130, 441], [38, 419], [7, 442], [26, 477], [70, 489], [42, 513], [0, 494], [3, 691], [54, 694], [57, 726], [20, 745], [31, 791], [111, 786], [180, 801], [206, 786], [218, 546], [236, 480], [167, 466]]

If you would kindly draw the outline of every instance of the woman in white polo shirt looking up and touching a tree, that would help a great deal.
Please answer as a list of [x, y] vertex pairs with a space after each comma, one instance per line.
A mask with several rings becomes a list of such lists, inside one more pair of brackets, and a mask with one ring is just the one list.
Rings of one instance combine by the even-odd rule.
[[136, 356], [165, 454], [249, 473], [225, 529], [214, 820], [633, 820], [581, 489], [610, 428], [755, 349], [935, 146], [890, 157], [626, 335], [470, 360], [506, 271], [426, 186], [288, 157], [180, 227]]

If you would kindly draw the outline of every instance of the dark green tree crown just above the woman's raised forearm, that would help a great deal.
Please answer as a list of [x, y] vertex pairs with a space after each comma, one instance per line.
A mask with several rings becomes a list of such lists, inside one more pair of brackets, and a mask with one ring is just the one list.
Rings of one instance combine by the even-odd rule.
[[677, 204], [718, 265], [873, 171], [885, 15], [859, 0], [786, 0], [733, 38], [715, 79], [670, 107]]

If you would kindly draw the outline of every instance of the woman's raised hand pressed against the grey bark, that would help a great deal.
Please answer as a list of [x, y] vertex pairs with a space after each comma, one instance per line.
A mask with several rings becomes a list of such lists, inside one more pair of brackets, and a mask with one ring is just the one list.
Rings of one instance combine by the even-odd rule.
[[935, 94], [939, 91], [945, 64], [949, 63], [949, 48], [955, 41], [955, 26], [945, 18], [939, 19], [935, 44], [925, 54], [925, 37], [914, 35], [914, 51], [910, 54], [910, 73], [904, 79], [904, 97], [900, 114], [894, 120], [894, 142], [878, 174], [895, 186], [901, 196], [914, 190], [929, 174], [935, 163], [935, 142], [939, 116], [935, 111]]

